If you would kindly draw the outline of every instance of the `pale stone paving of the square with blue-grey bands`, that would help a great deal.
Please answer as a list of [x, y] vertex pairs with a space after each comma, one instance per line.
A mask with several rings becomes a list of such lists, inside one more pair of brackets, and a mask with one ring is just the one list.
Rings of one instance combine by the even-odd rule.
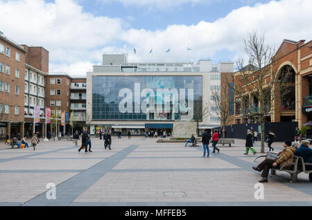
[[[202, 158], [202, 147], [156, 143], [155, 138], [113, 138], [112, 149], [92, 138], [92, 153], [67, 140], [33, 148], [0, 143], [0, 205], [312, 205], [307, 174], [297, 183], [277, 172], [255, 199], [255, 156], [243, 155], [244, 140]], [[275, 151], [281, 143], [273, 143]], [[218, 145], [219, 147], [219, 145]], [[254, 147], [260, 152], [259, 142]], [[267, 150], [267, 148], [266, 148]], [[46, 199], [55, 183], [56, 199]]]

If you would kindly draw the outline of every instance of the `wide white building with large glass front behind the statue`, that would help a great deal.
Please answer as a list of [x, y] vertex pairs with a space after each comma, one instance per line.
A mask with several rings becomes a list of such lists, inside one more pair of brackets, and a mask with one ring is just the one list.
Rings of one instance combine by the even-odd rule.
[[[135, 62], [127, 56], [103, 55], [87, 73], [87, 118], [91, 134], [179, 134], [179, 122], [199, 129], [220, 126], [211, 117], [211, 89], [220, 89], [220, 71], [233, 73], [232, 62]], [[182, 130], [181, 130], [182, 131]], [[194, 133], [196, 131], [193, 131]], [[189, 134], [187, 134], [189, 135]]]

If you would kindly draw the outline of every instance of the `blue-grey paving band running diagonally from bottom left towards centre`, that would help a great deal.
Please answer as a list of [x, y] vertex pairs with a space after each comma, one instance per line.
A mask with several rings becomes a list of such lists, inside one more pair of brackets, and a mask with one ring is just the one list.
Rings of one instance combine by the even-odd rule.
[[[70, 205], [76, 198], [78, 198], [78, 196], [80, 196], [80, 194], [83, 194], [85, 190], [94, 185], [94, 183], [100, 180], [105, 174], [107, 174], [107, 172], [110, 172], [110, 170], [112, 170], [118, 163], [128, 156], [128, 154], [137, 149], [137, 147], [139, 147], [139, 145], [129, 145], [120, 152], [116, 152], [116, 154], [103, 159], [103, 161], [96, 163], [92, 167], [85, 169], [83, 172], [80, 172], [79, 174], [76, 174], [75, 176], [72, 176], [71, 178], [56, 185], [57, 194], [60, 194], [61, 196], [62, 194], [68, 194], [69, 191], [71, 191], [71, 194], [69, 194], [67, 198], [62, 199], [62, 202], [58, 202], [58, 200], [47, 200], [45, 194], [48, 190], [46, 190], [45, 192], [42, 192], [42, 194], [35, 196], [33, 199], [26, 201], [22, 205], [42, 205], [42, 203], [45, 203], [46, 205]], [[75, 185], [76, 183], [81, 184], [77, 187], [77, 185]]]

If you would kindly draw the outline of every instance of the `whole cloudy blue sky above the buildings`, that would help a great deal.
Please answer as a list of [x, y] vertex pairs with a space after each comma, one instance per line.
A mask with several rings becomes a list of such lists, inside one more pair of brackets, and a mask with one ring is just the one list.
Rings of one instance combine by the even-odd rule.
[[129, 62], [246, 60], [254, 30], [275, 49], [310, 41], [311, 12], [311, 0], [0, 0], [0, 31], [46, 48], [50, 72], [85, 75], [111, 52]]

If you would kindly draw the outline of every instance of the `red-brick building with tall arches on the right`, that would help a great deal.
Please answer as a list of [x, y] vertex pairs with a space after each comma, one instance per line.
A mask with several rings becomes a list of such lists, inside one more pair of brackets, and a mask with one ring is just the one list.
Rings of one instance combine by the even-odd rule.
[[[274, 62], [267, 66], [270, 74], [282, 77], [287, 68], [291, 72], [287, 89], [289, 92], [285, 98], [275, 98], [270, 116], [270, 122], [298, 122], [301, 128], [304, 123], [312, 120], [312, 41], [305, 43], [304, 40], [295, 42], [285, 39], [277, 53], [273, 57]], [[250, 73], [254, 72], [251, 70]], [[257, 71], [256, 71], [257, 73]], [[268, 74], [265, 82], [270, 82], [271, 75]], [[239, 74], [235, 73], [236, 83], [239, 83]], [[255, 82], [257, 83], [257, 82]], [[257, 109], [259, 100], [254, 99], [254, 107]], [[235, 102], [234, 124], [248, 122], [248, 116], [243, 114], [243, 103]]]

